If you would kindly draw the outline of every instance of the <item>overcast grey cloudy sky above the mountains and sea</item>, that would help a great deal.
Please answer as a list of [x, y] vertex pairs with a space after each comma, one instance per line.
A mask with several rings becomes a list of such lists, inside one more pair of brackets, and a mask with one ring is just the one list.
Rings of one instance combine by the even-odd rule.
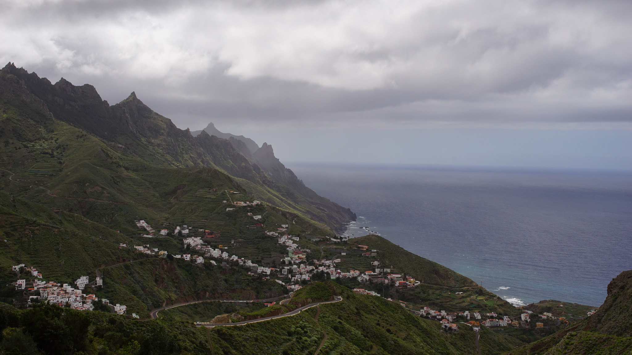
[[[111, 104], [135, 91], [180, 128], [213, 121], [279, 148], [276, 132], [286, 145], [293, 134], [331, 143], [358, 128], [388, 130], [384, 147], [398, 147], [397, 132], [442, 132], [441, 143], [454, 148], [470, 129], [489, 136], [467, 147], [482, 154], [490, 140], [511, 146], [507, 137], [533, 132], [533, 139], [550, 137], [543, 156], [558, 160], [564, 149], [553, 143], [575, 134], [569, 131], [585, 131], [571, 145], [586, 136], [600, 140], [595, 147], [632, 140], [631, 1], [0, 5], [0, 61], [53, 82], [90, 83]], [[341, 145], [338, 160], [354, 159], [350, 144]], [[415, 162], [441, 160], [424, 147], [410, 148], [427, 155]], [[525, 147], [509, 150], [528, 155]], [[611, 167], [632, 168], [632, 153], [605, 153], [627, 157]], [[514, 165], [538, 165], [519, 160]]]

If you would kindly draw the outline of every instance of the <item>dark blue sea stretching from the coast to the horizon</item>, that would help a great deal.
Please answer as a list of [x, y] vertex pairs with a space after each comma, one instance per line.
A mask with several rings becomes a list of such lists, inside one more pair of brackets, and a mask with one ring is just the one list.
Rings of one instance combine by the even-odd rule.
[[[288, 165], [376, 232], [514, 304], [600, 306], [632, 269], [632, 173]], [[367, 227], [367, 229], [361, 229]]]

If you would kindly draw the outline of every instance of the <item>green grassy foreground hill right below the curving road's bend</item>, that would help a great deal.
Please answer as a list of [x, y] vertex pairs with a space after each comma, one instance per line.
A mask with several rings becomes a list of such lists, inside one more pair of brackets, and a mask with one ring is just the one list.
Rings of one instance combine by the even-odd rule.
[[[324, 289], [339, 294], [343, 301], [320, 305], [317, 321], [317, 309], [310, 308], [272, 321], [215, 327], [211, 330], [215, 353], [313, 354], [325, 332], [327, 341], [320, 354], [476, 353], [475, 333], [466, 325], [454, 334], [442, 332], [439, 322], [415, 316], [399, 303], [356, 294], [334, 282], [313, 283], [301, 291], [319, 294]], [[499, 354], [520, 344], [490, 330], [483, 330], [480, 339], [485, 354]]]

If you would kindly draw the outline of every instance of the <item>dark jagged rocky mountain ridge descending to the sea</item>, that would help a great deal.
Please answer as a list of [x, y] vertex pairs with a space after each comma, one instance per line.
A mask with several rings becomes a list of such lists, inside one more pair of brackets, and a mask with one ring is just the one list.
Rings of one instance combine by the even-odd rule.
[[303, 215], [333, 232], [341, 231], [346, 222], [355, 219], [349, 208], [307, 188], [278, 159], [257, 164], [254, 155], [247, 154], [236, 138], [231, 142], [206, 132], [194, 137], [188, 129], [179, 129], [170, 119], [152, 111], [135, 92], [118, 104], [109, 105], [92, 85], [78, 87], [65, 79], [51, 84], [12, 63], [1, 71], [15, 76], [19, 83], [14, 85], [41, 100], [56, 119], [84, 129], [110, 145], [121, 146], [138, 159], [163, 167], [219, 169], [245, 184], [254, 198]]

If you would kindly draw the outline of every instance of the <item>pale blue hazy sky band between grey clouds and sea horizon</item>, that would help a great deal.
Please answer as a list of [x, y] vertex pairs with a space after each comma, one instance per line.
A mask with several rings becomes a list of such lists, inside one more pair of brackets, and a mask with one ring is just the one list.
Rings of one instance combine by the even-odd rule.
[[268, 143], [284, 164], [410, 164], [632, 171], [632, 131], [542, 129], [224, 129]]

